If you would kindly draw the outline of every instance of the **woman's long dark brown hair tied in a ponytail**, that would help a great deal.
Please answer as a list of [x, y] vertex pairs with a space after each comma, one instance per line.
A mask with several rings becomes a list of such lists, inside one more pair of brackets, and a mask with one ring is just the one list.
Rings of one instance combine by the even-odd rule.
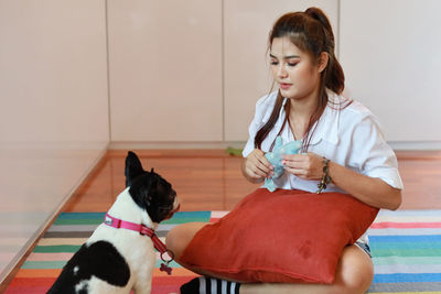
[[[310, 118], [303, 140], [302, 152], [306, 152], [314, 131], [311, 129], [322, 116], [329, 101], [326, 88], [336, 94], [341, 94], [344, 89], [344, 73], [342, 66], [335, 57], [335, 41], [331, 23], [324, 12], [319, 8], [309, 8], [304, 12], [292, 12], [280, 17], [280, 19], [276, 21], [270, 32], [268, 50], [271, 48], [275, 37], [286, 36], [289, 37], [292, 44], [294, 44], [299, 50], [310, 54], [313, 62], [319, 61], [322, 52], [327, 53], [329, 56], [327, 65], [321, 73], [319, 102]], [[269, 120], [256, 134], [255, 148], [261, 149], [261, 143], [275, 127], [275, 123], [279, 118], [283, 100], [284, 97], [281, 96], [279, 90]], [[288, 99], [284, 105], [286, 120], [279, 131], [279, 134], [289, 120], [289, 110], [290, 99]]]

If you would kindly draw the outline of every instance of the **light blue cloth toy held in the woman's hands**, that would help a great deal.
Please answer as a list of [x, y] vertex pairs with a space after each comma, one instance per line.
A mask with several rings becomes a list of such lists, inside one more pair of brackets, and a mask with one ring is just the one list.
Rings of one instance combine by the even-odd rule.
[[302, 141], [292, 141], [284, 145], [282, 145], [282, 138], [279, 135], [276, 138], [275, 149], [272, 152], [268, 152], [265, 154], [265, 157], [275, 167], [273, 175], [269, 178], [265, 178], [263, 187], [266, 187], [269, 192], [276, 190], [275, 178], [280, 177], [284, 173], [284, 166], [282, 164], [282, 155], [283, 154], [297, 154], [302, 146]]

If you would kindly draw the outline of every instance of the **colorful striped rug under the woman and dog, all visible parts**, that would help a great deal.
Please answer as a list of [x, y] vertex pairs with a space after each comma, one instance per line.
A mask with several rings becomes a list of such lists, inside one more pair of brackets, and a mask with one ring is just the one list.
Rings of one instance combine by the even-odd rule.
[[[226, 211], [178, 213], [160, 225], [163, 240], [178, 224], [215, 221]], [[6, 293], [45, 293], [65, 262], [103, 221], [104, 213], [61, 214], [39, 241]], [[381, 210], [369, 229], [375, 264], [368, 293], [441, 293], [441, 210]], [[172, 263], [173, 274], [153, 275], [153, 294], [179, 293], [179, 286], [195, 276]]]

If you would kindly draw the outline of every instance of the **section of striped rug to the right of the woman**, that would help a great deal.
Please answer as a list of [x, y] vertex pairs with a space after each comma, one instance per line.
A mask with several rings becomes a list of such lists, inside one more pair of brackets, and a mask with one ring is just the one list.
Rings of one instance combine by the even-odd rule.
[[369, 293], [441, 293], [441, 210], [381, 210], [368, 233]]

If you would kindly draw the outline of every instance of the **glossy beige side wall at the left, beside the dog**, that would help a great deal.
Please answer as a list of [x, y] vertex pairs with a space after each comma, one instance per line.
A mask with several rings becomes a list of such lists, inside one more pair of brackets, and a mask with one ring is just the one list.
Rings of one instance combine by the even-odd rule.
[[0, 1], [0, 281], [109, 142], [105, 15]]

